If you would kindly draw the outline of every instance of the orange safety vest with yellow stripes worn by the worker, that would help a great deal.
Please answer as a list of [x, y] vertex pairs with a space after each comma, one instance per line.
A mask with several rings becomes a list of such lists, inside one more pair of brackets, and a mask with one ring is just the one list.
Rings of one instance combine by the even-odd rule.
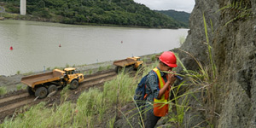
[[[159, 79], [159, 88], [162, 89], [164, 85], [166, 84], [165, 80], [160, 75], [160, 70], [155, 67], [153, 69], [154, 73], [157, 74], [157, 77]], [[167, 78], [166, 78], [167, 79]], [[163, 117], [168, 113], [169, 104], [167, 103], [169, 101], [169, 92], [170, 87], [166, 90], [166, 92], [160, 97], [160, 99], [154, 98], [154, 115], [158, 117]]]

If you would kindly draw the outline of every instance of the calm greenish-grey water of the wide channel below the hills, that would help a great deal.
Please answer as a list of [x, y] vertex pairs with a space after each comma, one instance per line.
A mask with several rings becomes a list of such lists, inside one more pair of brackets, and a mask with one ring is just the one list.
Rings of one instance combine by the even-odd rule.
[[[0, 75], [148, 55], [179, 47], [188, 29], [75, 26], [0, 21]], [[61, 47], [59, 47], [61, 45]], [[10, 47], [13, 50], [10, 50]]]

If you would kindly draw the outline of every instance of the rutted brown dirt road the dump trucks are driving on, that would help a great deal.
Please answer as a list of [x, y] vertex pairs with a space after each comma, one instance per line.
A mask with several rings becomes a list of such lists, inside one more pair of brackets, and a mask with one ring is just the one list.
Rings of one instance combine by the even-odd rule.
[[[114, 70], [108, 70], [101, 73], [95, 73], [92, 75], [84, 76], [85, 79], [80, 83], [79, 88], [76, 90], [70, 90], [71, 93], [68, 96], [67, 100], [76, 101], [80, 93], [84, 90], [87, 90], [90, 87], [101, 86], [106, 81], [114, 79], [117, 73]], [[26, 90], [20, 90], [12, 94], [3, 96], [0, 98], [0, 122], [3, 122], [8, 116], [12, 116], [14, 113], [19, 113], [20, 108], [24, 106], [32, 106], [38, 104], [38, 102], [47, 102], [49, 106], [53, 102], [61, 102], [61, 90], [55, 96], [46, 97], [44, 99], [36, 99], [35, 96], [29, 96]]]

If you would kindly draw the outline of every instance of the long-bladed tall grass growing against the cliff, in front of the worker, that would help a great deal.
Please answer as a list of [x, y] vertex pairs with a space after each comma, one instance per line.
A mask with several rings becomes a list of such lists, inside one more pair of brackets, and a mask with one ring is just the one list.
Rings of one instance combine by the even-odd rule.
[[[180, 67], [183, 67], [183, 72], [186, 73], [183, 75], [183, 77], [186, 77], [186, 81], [183, 81], [183, 83], [178, 84], [176, 87], [172, 88], [172, 94], [174, 95], [174, 98], [169, 102], [172, 104], [174, 108], [176, 108], [176, 114], [172, 116], [171, 121], [172, 123], [177, 125], [177, 127], [183, 127], [183, 118], [185, 113], [189, 110], [189, 100], [191, 100], [191, 97], [194, 98], [193, 101], [198, 102], [201, 105], [202, 110], [205, 110], [205, 116], [206, 120], [203, 122], [207, 122], [208, 125], [212, 126], [213, 124], [213, 118], [215, 114], [215, 82], [218, 77], [217, 74], [217, 67], [215, 66], [215, 63], [212, 59], [212, 47], [210, 46], [210, 42], [208, 39], [208, 30], [207, 30], [207, 21], [205, 19], [205, 16], [203, 15], [203, 21], [204, 21], [204, 27], [205, 27], [205, 34], [207, 38], [207, 50], [208, 50], [208, 61], [209, 61], [209, 67], [203, 66], [200, 61], [197, 61], [197, 59], [189, 54], [186, 51], [181, 50], [185, 54], [190, 55], [194, 60], [197, 62], [199, 70], [198, 71], [189, 71], [186, 69], [186, 67], [183, 66], [183, 63], [179, 60], [177, 57], [177, 62]], [[212, 21], [211, 21], [212, 26]], [[213, 32], [213, 31], [212, 31]], [[194, 87], [193, 87], [194, 86]], [[179, 91], [182, 88], [187, 89], [185, 92], [180, 93]], [[201, 94], [201, 97], [195, 96], [195, 94]], [[199, 109], [199, 108], [197, 108]], [[171, 110], [172, 111], [172, 110]], [[194, 115], [192, 118], [196, 118], [197, 115]], [[189, 122], [186, 122], [189, 123]], [[200, 125], [195, 125], [197, 127]]]

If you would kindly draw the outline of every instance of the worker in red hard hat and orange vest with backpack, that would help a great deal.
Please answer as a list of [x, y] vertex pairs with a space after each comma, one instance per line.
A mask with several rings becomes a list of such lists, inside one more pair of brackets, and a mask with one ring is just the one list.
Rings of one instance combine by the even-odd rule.
[[[158, 120], [168, 113], [169, 92], [176, 77], [173, 67], [177, 67], [176, 56], [171, 51], [162, 53], [159, 64], [148, 73], [146, 84], [147, 105], [143, 122], [146, 128], [154, 128]], [[156, 74], [156, 75], [155, 75]], [[160, 103], [161, 102], [161, 103]]]

